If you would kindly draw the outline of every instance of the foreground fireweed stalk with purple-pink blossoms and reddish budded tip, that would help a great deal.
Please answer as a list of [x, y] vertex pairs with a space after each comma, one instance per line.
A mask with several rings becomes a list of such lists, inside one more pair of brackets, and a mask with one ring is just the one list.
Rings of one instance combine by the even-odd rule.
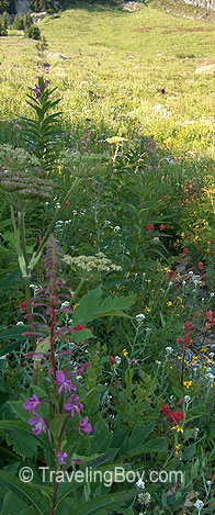
[[[59, 472], [65, 468], [81, 462], [81, 460], [72, 458], [71, 456], [73, 445], [71, 445], [70, 439], [68, 444], [68, 435], [70, 435], [70, 432], [76, 432], [76, 437], [77, 433], [78, 437], [81, 437], [92, 430], [88, 416], [80, 415], [80, 412], [83, 410], [83, 403], [80, 402], [76, 385], [77, 376], [81, 376], [84, 370], [90, 367], [90, 363], [75, 363], [70, 361], [65, 368], [57, 369], [56, 357], [59, 363], [60, 356], [71, 356], [71, 350], [67, 349], [56, 352], [56, 339], [64, 338], [67, 333], [73, 333], [76, 329], [61, 327], [59, 325], [58, 315], [61, 315], [63, 311], [72, 313], [72, 310], [68, 301], [63, 303], [63, 298], [70, 299], [70, 294], [68, 293], [65, 280], [59, 275], [61, 271], [61, 254], [54, 236], [49, 238], [46, 247], [44, 267], [48, 281], [32, 299], [33, 310], [36, 307], [43, 311], [43, 314], [34, 312], [32, 316], [35, 320], [42, 318], [42, 322], [33, 322], [30, 325], [32, 331], [36, 329], [34, 334], [38, 337], [39, 344], [44, 345], [45, 350], [41, 352], [27, 352], [25, 356], [33, 356], [34, 359], [45, 360], [48, 367], [46, 378], [44, 379], [47, 396], [45, 392], [43, 399], [33, 394], [23, 404], [23, 408], [29, 410], [32, 415], [27, 424], [32, 426], [33, 434], [39, 435], [41, 433], [45, 433], [47, 435], [50, 452], [55, 462], [55, 471]], [[29, 318], [30, 315], [26, 314], [25, 317]], [[46, 323], [47, 317], [49, 317], [49, 320]], [[29, 335], [29, 333], [24, 334]], [[50, 366], [49, 361], [52, 363]], [[45, 403], [48, 404], [49, 408], [48, 421], [47, 417], [43, 416]], [[39, 413], [39, 411], [42, 413]], [[71, 424], [71, 418], [75, 418], [73, 424]], [[55, 513], [58, 484], [56, 480], [53, 486], [50, 515]]]

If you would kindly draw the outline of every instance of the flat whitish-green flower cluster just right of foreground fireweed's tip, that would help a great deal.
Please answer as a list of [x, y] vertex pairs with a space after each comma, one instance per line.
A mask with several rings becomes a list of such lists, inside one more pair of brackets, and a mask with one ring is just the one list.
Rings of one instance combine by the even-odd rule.
[[103, 253], [98, 253], [95, 256], [77, 256], [72, 257], [65, 255], [64, 260], [78, 269], [84, 270], [86, 272], [101, 271], [121, 271], [122, 268], [114, 265]]

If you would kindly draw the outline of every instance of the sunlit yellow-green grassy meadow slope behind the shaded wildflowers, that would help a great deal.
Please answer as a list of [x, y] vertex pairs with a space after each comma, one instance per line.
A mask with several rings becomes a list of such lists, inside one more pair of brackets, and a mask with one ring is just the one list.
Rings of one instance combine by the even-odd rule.
[[[50, 78], [64, 117], [76, 131], [89, 120], [98, 131], [132, 138], [154, 134], [168, 150], [214, 155], [214, 76], [195, 76], [215, 60], [211, 22], [177, 18], [154, 4], [131, 13], [120, 8], [76, 8], [39, 22]], [[24, 93], [39, 58], [35, 42], [10, 31], [0, 38], [1, 119], [27, 112]], [[165, 88], [165, 94], [160, 90]]]

